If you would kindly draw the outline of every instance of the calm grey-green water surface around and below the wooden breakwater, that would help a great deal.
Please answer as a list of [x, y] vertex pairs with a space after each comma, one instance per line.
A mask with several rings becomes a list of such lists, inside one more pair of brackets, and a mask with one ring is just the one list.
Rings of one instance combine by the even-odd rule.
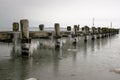
[[[120, 35], [72, 45], [62, 39], [62, 48], [54, 49], [54, 40], [32, 40], [32, 57], [14, 57], [12, 43], [0, 43], [0, 80], [120, 80]], [[18, 45], [19, 46], [19, 45]], [[18, 50], [19, 54], [19, 50]]]

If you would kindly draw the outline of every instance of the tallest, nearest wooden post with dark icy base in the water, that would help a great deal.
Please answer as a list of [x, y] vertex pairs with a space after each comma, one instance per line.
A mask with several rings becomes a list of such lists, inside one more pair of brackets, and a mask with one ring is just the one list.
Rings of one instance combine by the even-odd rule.
[[29, 25], [28, 20], [23, 19], [20, 21], [21, 24], [21, 33], [22, 33], [22, 56], [30, 56], [29, 48], [30, 48], [30, 39], [29, 39]]

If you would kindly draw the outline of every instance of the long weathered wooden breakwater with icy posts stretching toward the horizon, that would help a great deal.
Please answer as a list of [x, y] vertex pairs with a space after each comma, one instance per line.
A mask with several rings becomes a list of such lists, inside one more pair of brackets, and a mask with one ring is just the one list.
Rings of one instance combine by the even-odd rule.
[[[19, 26], [20, 25], [20, 26]], [[29, 21], [27, 19], [20, 20], [20, 23], [14, 22], [13, 31], [2, 31], [0, 32], [1, 42], [12, 42], [14, 45], [20, 43], [21, 54], [23, 56], [30, 56], [30, 47], [32, 39], [54, 39], [55, 49], [60, 49], [61, 38], [68, 37], [72, 38], [71, 43], [77, 45], [81, 37], [86, 43], [88, 40], [94, 41], [95, 39], [102, 39], [119, 34], [119, 29], [108, 28], [108, 27], [81, 27], [74, 25], [73, 29], [71, 26], [66, 27], [66, 31], [60, 31], [60, 24], [54, 24], [53, 31], [44, 31], [44, 24], [39, 25], [40, 31], [29, 31]], [[21, 29], [21, 30], [19, 30]]]

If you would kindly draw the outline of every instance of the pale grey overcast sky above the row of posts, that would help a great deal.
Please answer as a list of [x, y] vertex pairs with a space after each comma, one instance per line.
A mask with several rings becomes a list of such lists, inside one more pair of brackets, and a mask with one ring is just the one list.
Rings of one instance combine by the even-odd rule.
[[120, 0], [0, 0], [0, 27], [28, 19], [31, 27], [80, 24], [120, 27]]

